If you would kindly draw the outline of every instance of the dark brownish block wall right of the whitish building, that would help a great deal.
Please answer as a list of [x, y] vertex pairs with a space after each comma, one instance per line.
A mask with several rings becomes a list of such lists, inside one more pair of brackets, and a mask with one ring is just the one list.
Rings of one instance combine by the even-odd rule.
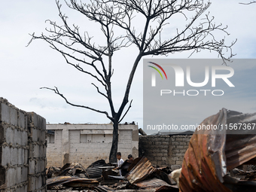
[[157, 166], [173, 170], [182, 166], [191, 136], [139, 136], [139, 156], [145, 155]]

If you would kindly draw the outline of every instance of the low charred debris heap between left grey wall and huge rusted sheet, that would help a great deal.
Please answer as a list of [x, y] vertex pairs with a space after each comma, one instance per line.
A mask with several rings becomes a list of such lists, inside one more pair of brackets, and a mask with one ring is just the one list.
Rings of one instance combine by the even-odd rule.
[[[129, 166], [127, 166], [129, 164]], [[85, 169], [80, 163], [67, 163], [62, 168], [50, 167], [47, 172], [47, 190], [152, 190], [178, 191], [178, 186], [172, 179], [168, 167], [155, 168], [146, 157], [139, 157], [133, 163], [124, 163], [121, 167], [128, 172], [125, 176], [117, 176], [115, 171], [103, 178], [102, 168], [109, 166], [104, 160], [99, 160]], [[96, 177], [99, 176], [99, 177]], [[114, 184], [113, 182], [114, 181]]]

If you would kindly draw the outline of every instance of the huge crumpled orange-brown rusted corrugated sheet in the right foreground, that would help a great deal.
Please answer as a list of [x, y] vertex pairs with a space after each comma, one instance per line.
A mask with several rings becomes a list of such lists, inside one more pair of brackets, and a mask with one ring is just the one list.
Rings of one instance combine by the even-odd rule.
[[[203, 120], [184, 154], [180, 191], [232, 191], [224, 185], [224, 175], [256, 157], [256, 127], [254, 130], [231, 130], [230, 123], [256, 123], [256, 114], [223, 108], [218, 114]], [[207, 126], [218, 129], [199, 129]]]

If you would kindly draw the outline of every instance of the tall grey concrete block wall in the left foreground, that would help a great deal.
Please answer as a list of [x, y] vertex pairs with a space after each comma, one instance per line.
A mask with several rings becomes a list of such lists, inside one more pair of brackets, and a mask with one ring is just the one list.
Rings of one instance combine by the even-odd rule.
[[46, 191], [45, 119], [0, 98], [0, 191]]

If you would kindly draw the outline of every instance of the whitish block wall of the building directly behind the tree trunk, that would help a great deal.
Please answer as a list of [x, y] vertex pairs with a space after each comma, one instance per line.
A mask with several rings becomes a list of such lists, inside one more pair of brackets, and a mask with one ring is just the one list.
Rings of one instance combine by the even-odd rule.
[[[87, 167], [105, 160], [112, 144], [112, 124], [47, 124], [47, 167], [79, 162]], [[119, 126], [118, 151], [123, 160], [128, 154], [139, 157], [137, 125]]]

